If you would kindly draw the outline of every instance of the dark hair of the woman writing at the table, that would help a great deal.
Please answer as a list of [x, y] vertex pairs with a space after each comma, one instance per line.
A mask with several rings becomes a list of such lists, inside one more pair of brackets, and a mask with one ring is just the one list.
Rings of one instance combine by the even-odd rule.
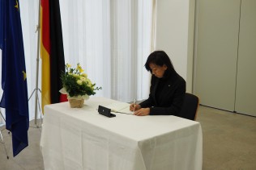
[[164, 51], [152, 52], [147, 57], [145, 68], [147, 69], [147, 71], [150, 71], [152, 73], [152, 70], [149, 67], [149, 64], [156, 64], [158, 66], [163, 66], [165, 64], [171, 73], [173, 73], [173, 71], [175, 72], [172, 61]]

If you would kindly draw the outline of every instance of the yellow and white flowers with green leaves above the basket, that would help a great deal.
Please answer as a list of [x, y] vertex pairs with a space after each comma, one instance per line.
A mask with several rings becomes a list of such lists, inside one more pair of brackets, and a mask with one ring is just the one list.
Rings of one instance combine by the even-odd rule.
[[86, 73], [83, 73], [83, 68], [80, 64], [77, 64], [76, 68], [71, 68], [70, 64], [65, 65], [66, 72], [62, 73], [62, 85], [61, 93], [67, 94], [68, 99], [85, 99], [89, 96], [96, 94], [95, 90], [101, 89], [96, 87], [96, 84], [87, 77]]

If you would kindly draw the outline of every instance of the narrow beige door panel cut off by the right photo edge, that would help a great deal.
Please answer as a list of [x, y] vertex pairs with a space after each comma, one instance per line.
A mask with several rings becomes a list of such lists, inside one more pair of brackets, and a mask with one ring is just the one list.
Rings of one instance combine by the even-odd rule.
[[238, 113], [256, 116], [256, 1], [241, 1], [236, 106]]

